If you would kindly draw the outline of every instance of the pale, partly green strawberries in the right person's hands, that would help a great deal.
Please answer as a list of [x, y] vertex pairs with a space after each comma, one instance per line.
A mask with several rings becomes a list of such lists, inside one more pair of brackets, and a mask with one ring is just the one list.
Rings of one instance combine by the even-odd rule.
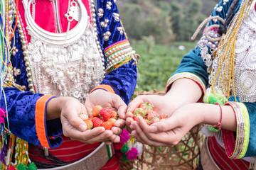
[[137, 121], [137, 116], [144, 118], [146, 124], [152, 125], [153, 123], [164, 121], [168, 118], [167, 115], [159, 115], [153, 110], [153, 105], [151, 103], [145, 102], [139, 105], [139, 108], [134, 110], [133, 119]]

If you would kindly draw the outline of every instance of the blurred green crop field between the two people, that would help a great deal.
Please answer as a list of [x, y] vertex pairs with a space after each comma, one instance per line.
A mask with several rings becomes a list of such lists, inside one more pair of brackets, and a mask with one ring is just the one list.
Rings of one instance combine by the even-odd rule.
[[[185, 50], [179, 50], [183, 44]], [[138, 89], [150, 91], [164, 90], [166, 82], [180, 64], [183, 55], [196, 46], [195, 42], [177, 42], [174, 45], [155, 45], [151, 52], [143, 43], [132, 44], [133, 49], [141, 56], [138, 63]]]

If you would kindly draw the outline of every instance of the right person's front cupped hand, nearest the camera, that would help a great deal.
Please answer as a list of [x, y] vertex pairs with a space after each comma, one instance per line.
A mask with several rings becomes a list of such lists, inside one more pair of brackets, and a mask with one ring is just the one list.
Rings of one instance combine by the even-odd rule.
[[138, 142], [146, 145], [156, 147], [177, 145], [194, 125], [203, 122], [203, 116], [198, 112], [200, 107], [197, 103], [182, 106], [167, 120], [152, 125], [147, 125], [144, 119], [139, 117], [138, 121], [131, 123], [134, 129], [131, 133]]

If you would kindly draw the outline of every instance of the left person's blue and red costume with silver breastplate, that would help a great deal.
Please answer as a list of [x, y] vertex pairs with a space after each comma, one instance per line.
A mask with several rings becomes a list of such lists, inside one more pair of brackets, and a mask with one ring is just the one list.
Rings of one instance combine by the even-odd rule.
[[[119, 169], [111, 147], [71, 141], [63, 136], [60, 119], [46, 120], [48, 101], [55, 96], [84, 103], [90, 91], [104, 89], [127, 104], [132, 98], [138, 55], [129, 45], [116, 0], [3, 0], [1, 11], [6, 31], [1, 33], [1, 113], [6, 131], [16, 135], [4, 137], [2, 127], [1, 139], [23, 139], [24, 152], [29, 151], [29, 158], [15, 155], [14, 166], [32, 160], [38, 168], [64, 169], [75, 162], [66, 169]], [[14, 150], [9, 146], [9, 152], [1, 152], [6, 157]], [[95, 156], [85, 159], [88, 154]], [[4, 164], [11, 166], [9, 160]]]

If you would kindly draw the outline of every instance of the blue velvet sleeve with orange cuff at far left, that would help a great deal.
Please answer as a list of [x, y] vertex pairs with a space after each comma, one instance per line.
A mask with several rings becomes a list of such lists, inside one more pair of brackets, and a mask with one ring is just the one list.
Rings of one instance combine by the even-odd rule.
[[58, 147], [62, 142], [61, 124], [56, 121], [51, 123], [45, 118], [47, 103], [54, 96], [32, 94], [14, 87], [5, 87], [3, 90], [1, 108], [8, 113], [5, 123], [11, 132], [34, 145]]

